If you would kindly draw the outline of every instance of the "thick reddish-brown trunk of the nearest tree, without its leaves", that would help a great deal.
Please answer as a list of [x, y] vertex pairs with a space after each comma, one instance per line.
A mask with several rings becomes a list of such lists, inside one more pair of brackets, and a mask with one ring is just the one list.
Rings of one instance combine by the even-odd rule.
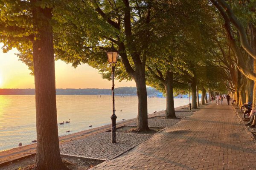
[[58, 140], [52, 26], [48, 21], [52, 13], [49, 8], [37, 7], [32, 14], [39, 37], [33, 40], [37, 131], [34, 170], [64, 170], [67, 167], [61, 160]]

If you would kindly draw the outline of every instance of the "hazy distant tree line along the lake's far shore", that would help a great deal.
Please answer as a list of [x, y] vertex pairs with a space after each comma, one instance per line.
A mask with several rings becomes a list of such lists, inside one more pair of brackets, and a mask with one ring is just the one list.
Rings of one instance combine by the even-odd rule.
[[[159, 93], [154, 88], [147, 88], [147, 94], [153, 95]], [[57, 95], [111, 95], [111, 89], [99, 88], [67, 88], [56, 89]], [[116, 95], [137, 95], [136, 87], [119, 87], [115, 89]], [[0, 89], [0, 95], [35, 95], [35, 89]]]

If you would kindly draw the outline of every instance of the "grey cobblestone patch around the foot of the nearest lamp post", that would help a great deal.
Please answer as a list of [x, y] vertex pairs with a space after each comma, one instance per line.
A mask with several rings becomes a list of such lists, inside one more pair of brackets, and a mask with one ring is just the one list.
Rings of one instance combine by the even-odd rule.
[[61, 154], [95, 159], [113, 159], [125, 151], [151, 138], [152, 135], [116, 133], [116, 143], [111, 143], [111, 132], [99, 133], [60, 146]]

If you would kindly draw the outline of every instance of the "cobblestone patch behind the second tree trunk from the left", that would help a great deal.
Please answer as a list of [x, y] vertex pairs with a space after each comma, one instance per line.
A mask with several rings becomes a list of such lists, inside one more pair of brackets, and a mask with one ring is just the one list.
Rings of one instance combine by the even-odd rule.
[[[148, 127], [170, 127], [181, 119], [148, 119]], [[127, 124], [128, 126], [137, 126], [137, 122]]]

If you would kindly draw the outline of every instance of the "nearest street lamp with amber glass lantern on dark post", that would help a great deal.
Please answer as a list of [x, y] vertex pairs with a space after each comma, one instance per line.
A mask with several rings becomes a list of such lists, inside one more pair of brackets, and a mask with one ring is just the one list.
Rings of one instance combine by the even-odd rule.
[[108, 62], [112, 68], [112, 97], [113, 97], [113, 114], [111, 116], [111, 122], [112, 122], [112, 128], [111, 128], [111, 142], [116, 143], [116, 114], [115, 114], [115, 84], [114, 84], [114, 72], [115, 72], [115, 67], [116, 67], [116, 62], [117, 62], [117, 56], [118, 56], [118, 51], [114, 48], [113, 44], [111, 48], [107, 51], [108, 55]]

